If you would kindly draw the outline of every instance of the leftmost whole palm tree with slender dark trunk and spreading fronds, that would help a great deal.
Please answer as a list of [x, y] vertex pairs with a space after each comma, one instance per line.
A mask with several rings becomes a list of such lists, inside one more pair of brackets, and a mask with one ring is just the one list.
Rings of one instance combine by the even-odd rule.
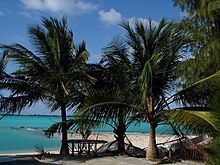
[[20, 44], [1, 46], [4, 54], [19, 65], [13, 73], [14, 81], [1, 81], [1, 88], [11, 91], [10, 96], [1, 98], [1, 105], [17, 110], [40, 100], [48, 103], [51, 111], [60, 110], [60, 153], [66, 154], [69, 152], [66, 110], [81, 103], [82, 80], [89, 78], [84, 71], [89, 54], [85, 42], [75, 46], [66, 18], [60, 22], [55, 18], [43, 18], [42, 24], [43, 27], [36, 25], [28, 28], [36, 51], [32, 52]]

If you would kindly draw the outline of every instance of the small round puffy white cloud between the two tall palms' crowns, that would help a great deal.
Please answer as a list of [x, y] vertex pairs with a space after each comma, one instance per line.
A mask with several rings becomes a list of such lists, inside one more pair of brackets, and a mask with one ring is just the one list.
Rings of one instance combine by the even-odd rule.
[[99, 11], [100, 20], [108, 25], [115, 25], [121, 21], [121, 14], [115, 9], [109, 11], [100, 10]]

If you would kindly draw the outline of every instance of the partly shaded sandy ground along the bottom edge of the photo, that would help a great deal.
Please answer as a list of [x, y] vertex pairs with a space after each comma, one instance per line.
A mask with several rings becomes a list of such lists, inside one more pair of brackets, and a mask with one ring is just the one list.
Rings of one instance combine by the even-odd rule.
[[[5, 160], [5, 162], [1, 162]], [[144, 158], [135, 158], [128, 156], [108, 156], [95, 158], [76, 158], [70, 156], [50, 155], [44, 160], [37, 159], [34, 155], [18, 155], [18, 156], [0, 156], [0, 164], [4, 165], [153, 165], [158, 162], [148, 161]], [[203, 162], [195, 161], [178, 161], [166, 163], [166, 165], [205, 165]]]

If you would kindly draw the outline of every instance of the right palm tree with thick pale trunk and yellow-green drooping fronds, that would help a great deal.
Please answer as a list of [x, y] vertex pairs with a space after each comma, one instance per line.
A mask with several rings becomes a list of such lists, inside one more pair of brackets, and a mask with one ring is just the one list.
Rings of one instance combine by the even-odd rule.
[[[156, 145], [156, 128], [159, 124], [170, 124], [175, 131], [180, 125], [195, 131], [206, 133], [213, 131], [216, 127], [211, 114], [206, 112], [208, 110], [206, 103], [209, 96], [218, 88], [216, 85], [219, 84], [217, 82], [220, 81], [220, 75], [216, 73], [175, 93], [176, 69], [182, 60], [181, 48], [189, 42], [185, 34], [179, 31], [178, 26], [164, 19], [157, 26], [152, 25], [151, 21], [147, 26], [136, 21], [134, 29], [125, 21], [121, 26], [127, 31], [125, 39], [127, 46], [112, 43], [113, 49], [110, 49], [108, 54], [111, 58], [108, 59], [110, 63], [119, 61], [122, 68], [129, 65], [125, 69], [128, 72], [123, 72], [133, 77], [129, 80], [128, 89], [124, 90], [128, 92], [124, 94], [127, 99], [120, 100], [115, 97], [111, 100], [96, 99], [93, 102], [94, 99], [90, 98], [85, 101], [83, 111], [113, 105], [135, 109], [139, 114], [137, 116], [141, 116], [142, 120], [150, 125], [147, 159], [159, 156]], [[127, 56], [119, 56], [121, 52], [126, 52]], [[126, 80], [125, 78], [126, 76], [121, 77]], [[104, 98], [103, 94], [95, 97]], [[87, 102], [89, 104], [86, 104]], [[176, 104], [177, 107], [172, 111], [170, 105], [174, 102], [181, 104]], [[108, 112], [106, 109], [103, 109], [103, 113]], [[193, 117], [189, 119], [189, 116]], [[207, 127], [203, 126], [201, 129], [198, 123], [203, 123]]]

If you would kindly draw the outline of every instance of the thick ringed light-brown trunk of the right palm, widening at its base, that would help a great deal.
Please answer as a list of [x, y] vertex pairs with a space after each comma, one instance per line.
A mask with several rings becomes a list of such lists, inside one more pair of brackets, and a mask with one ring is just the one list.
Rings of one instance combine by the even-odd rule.
[[156, 126], [150, 123], [150, 137], [149, 144], [147, 147], [146, 158], [148, 160], [154, 160], [159, 157], [157, 144], [156, 144]]

